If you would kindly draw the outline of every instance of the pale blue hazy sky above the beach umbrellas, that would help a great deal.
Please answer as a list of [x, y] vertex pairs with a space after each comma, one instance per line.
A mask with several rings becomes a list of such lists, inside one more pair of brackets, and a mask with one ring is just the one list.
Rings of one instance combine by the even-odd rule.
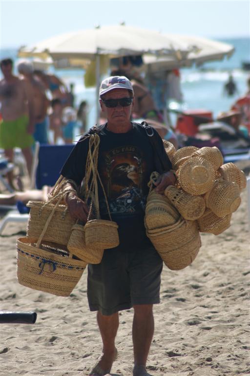
[[162, 33], [250, 37], [250, 0], [0, 0], [0, 47], [121, 22]]

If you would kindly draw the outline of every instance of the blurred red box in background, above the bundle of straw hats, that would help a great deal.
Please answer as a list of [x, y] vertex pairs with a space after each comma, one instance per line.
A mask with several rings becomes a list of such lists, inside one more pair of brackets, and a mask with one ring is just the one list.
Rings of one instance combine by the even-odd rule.
[[212, 112], [208, 110], [186, 110], [183, 115], [179, 115], [176, 123], [176, 130], [187, 136], [195, 136], [198, 126], [206, 123], [206, 119], [212, 121]]

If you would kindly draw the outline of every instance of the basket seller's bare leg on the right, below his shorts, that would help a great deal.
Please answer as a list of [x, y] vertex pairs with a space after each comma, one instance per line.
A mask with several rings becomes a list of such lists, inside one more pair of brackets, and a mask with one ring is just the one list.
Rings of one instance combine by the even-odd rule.
[[149, 376], [146, 372], [146, 359], [153, 334], [153, 305], [134, 305], [132, 337], [135, 366], [133, 376]]

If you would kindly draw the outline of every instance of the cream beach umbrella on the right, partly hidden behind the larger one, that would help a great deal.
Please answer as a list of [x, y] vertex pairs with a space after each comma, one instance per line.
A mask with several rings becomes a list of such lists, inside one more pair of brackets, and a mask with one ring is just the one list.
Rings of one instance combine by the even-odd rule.
[[225, 57], [229, 58], [234, 52], [234, 47], [227, 43], [191, 35], [175, 35], [175, 37], [184, 42], [191, 52], [178, 61], [171, 56], [157, 57], [144, 55], [144, 63], [149, 65], [152, 72], [167, 71], [172, 68], [191, 67], [193, 64], [200, 66], [209, 61], [222, 60]]

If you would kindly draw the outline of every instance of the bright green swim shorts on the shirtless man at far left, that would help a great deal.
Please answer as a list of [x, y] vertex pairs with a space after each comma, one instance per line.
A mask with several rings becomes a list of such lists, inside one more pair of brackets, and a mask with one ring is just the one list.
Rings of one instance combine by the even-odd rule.
[[34, 143], [34, 138], [27, 132], [29, 118], [21, 115], [16, 120], [0, 121], [0, 148], [13, 149], [20, 147], [25, 149]]

